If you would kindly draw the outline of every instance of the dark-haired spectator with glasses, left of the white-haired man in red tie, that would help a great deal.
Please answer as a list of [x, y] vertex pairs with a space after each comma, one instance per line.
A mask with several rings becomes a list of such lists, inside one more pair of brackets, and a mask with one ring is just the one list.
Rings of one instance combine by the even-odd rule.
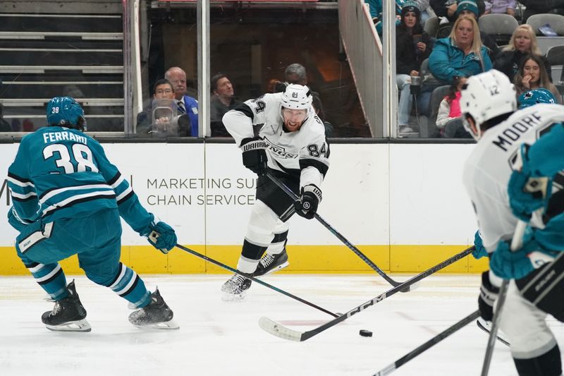
[[[164, 99], [161, 104], [163, 107], [168, 107], [167, 104], [172, 104], [175, 101], [174, 90], [172, 84], [168, 80], [161, 78], [153, 85], [153, 99]], [[167, 103], [167, 99], [168, 102]], [[182, 114], [183, 119], [171, 119], [171, 111], [164, 111], [164, 113], [159, 114], [159, 111], [155, 112], [155, 124], [169, 124], [171, 121], [176, 121], [175, 127], [178, 126], [179, 136], [189, 136], [190, 135], [190, 118], [186, 114]], [[150, 135], [153, 132], [153, 106], [152, 101], [149, 106], [143, 111], [137, 114], [137, 128], [136, 133], [138, 135]], [[176, 133], [176, 132], [175, 132]]]

